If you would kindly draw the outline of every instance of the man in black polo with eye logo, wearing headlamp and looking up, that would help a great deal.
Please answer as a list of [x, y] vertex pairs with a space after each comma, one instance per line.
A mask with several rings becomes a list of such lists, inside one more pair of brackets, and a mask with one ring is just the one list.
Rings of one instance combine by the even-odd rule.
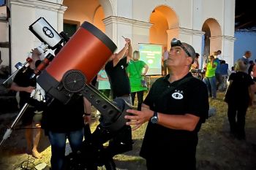
[[148, 122], [140, 156], [147, 169], [196, 169], [197, 132], [208, 117], [206, 84], [189, 72], [195, 60], [191, 45], [173, 39], [167, 68], [170, 74], [151, 86], [142, 111], [128, 109], [134, 130]]

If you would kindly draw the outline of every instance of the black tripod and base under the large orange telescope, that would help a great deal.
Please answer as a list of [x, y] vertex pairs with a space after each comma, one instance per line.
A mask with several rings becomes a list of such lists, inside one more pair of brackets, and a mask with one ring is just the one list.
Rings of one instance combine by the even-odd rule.
[[[129, 126], [124, 126], [121, 132], [129, 131]], [[116, 164], [113, 156], [122, 152], [132, 150], [132, 143], [109, 142], [108, 146], [103, 144], [109, 139], [113, 139], [116, 134], [102, 128], [98, 125], [96, 130], [91, 134], [89, 125], [84, 127], [85, 140], [81, 149], [76, 153], [70, 153], [66, 157], [64, 169], [69, 170], [97, 170], [98, 166], [105, 166], [107, 170], [116, 170]], [[129, 138], [129, 136], [127, 136]], [[132, 137], [132, 136], [130, 136]]]

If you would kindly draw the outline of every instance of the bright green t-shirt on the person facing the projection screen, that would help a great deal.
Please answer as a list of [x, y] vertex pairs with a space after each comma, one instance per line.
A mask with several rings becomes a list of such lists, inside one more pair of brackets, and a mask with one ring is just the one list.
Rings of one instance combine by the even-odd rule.
[[129, 83], [131, 85], [131, 92], [147, 90], [141, 86], [140, 80], [143, 80], [141, 76], [143, 68], [146, 65], [144, 61], [129, 61], [127, 66], [127, 73], [129, 74]]

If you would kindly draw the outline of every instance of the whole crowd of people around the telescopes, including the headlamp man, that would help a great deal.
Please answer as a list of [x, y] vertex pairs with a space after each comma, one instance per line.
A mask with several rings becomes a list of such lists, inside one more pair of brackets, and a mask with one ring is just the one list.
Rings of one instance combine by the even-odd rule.
[[[132, 145], [132, 130], [148, 123], [140, 150], [147, 169], [196, 169], [197, 133], [208, 118], [209, 98], [217, 98], [218, 90], [226, 90], [230, 134], [246, 139], [246, 109], [253, 104], [256, 89], [256, 64], [249, 61], [252, 55], [249, 51], [229, 71], [227, 63], [220, 59], [222, 51], [218, 50], [203, 63], [205, 74], [198, 79], [192, 70], [200, 68], [200, 55], [186, 42], [172, 39], [170, 50], [164, 47], [162, 54], [162, 77], [148, 89], [141, 83], [148, 65], [140, 61], [139, 51], [132, 53], [131, 40], [124, 38], [124, 41], [124, 47], [110, 56], [94, 78], [99, 91], [111, 100], [121, 98], [135, 105], [136, 94], [138, 98], [137, 109], [127, 110], [130, 113], [125, 116], [127, 125], [110, 140], [110, 145]], [[36, 78], [31, 79], [29, 75], [40, 62], [40, 53], [37, 49], [31, 53], [33, 62], [16, 74], [10, 88], [20, 93], [21, 107], [37, 85]], [[36, 119], [38, 112], [41, 117]], [[37, 146], [40, 127], [43, 128], [51, 145], [51, 169], [61, 170], [64, 169], [66, 140], [72, 152], [78, 152], [81, 147], [83, 127], [91, 123], [91, 104], [85, 97], [75, 94], [68, 104], [54, 100], [49, 107], [31, 106], [22, 120], [23, 125], [28, 126], [28, 151], [34, 158], [42, 158]], [[32, 125], [37, 128], [31, 130]]]

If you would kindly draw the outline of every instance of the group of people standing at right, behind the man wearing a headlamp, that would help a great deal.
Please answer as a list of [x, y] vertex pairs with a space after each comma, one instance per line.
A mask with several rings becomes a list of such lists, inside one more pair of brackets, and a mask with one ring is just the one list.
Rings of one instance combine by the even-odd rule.
[[220, 59], [221, 53], [221, 50], [218, 50], [208, 56], [203, 66], [203, 82], [208, 88], [209, 98], [216, 99], [217, 91], [225, 91], [224, 100], [227, 102], [230, 134], [240, 140], [246, 139], [246, 110], [255, 104], [256, 65], [254, 61], [249, 60], [252, 53], [246, 51], [230, 70], [225, 60]]

